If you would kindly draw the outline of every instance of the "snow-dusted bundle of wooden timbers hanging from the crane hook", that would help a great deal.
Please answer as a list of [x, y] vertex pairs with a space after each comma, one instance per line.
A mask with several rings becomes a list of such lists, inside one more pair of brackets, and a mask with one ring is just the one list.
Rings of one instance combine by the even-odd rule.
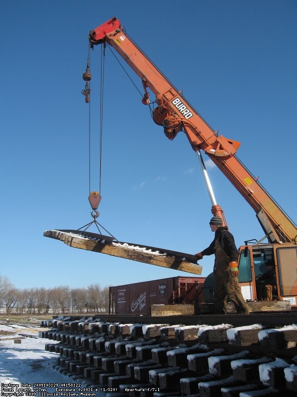
[[60, 240], [73, 248], [99, 252], [191, 274], [201, 274], [202, 272], [202, 266], [195, 264], [197, 260], [195, 256], [182, 252], [148, 247], [141, 244], [123, 243], [113, 237], [80, 230], [46, 230], [44, 236]]

